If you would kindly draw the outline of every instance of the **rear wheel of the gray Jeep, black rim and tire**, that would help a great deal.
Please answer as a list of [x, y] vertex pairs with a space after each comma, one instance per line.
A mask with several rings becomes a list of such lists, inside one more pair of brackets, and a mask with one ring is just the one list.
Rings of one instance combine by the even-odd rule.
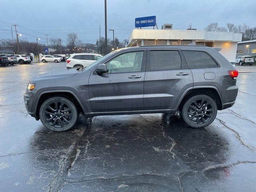
[[203, 128], [214, 121], [217, 110], [217, 104], [211, 97], [195, 95], [186, 100], [180, 117], [192, 128]]

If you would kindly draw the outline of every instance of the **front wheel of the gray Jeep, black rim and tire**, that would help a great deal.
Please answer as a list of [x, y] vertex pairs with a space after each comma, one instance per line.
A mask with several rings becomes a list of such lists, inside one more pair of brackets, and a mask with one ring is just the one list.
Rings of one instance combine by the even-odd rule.
[[69, 130], [76, 124], [78, 112], [74, 103], [67, 98], [52, 97], [41, 105], [39, 117], [46, 128], [60, 132]]

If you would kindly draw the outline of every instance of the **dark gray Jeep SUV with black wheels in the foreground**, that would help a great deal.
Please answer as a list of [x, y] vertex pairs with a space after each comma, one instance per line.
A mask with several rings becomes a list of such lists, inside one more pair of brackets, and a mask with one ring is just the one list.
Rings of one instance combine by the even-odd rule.
[[115, 50], [86, 68], [32, 78], [28, 113], [46, 128], [65, 131], [78, 114], [166, 113], [178, 110], [193, 128], [210, 125], [236, 100], [237, 70], [205, 46], [140, 46]]

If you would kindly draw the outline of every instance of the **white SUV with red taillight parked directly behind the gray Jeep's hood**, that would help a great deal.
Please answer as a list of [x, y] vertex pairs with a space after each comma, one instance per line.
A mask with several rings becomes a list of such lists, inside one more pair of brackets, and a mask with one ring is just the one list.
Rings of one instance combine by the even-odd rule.
[[67, 68], [70, 69], [78, 67], [87, 67], [99, 58], [102, 58], [102, 55], [94, 53], [71, 54], [70, 57], [66, 60]]

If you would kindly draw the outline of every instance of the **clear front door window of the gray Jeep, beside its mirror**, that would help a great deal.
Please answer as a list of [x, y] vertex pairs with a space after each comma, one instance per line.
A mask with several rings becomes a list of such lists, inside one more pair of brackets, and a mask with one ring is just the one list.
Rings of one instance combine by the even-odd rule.
[[143, 51], [121, 54], [106, 63], [108, 73], [140, 72]]

